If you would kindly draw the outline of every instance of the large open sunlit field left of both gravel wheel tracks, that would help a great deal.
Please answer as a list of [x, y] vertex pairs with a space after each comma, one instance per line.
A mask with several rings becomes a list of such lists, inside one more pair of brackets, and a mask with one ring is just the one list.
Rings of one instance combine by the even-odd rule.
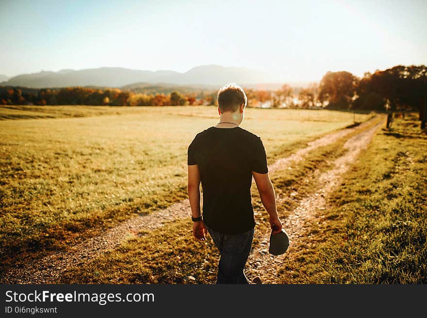
[[[16, 106], [0, 117], [2, 268], [186, 198], [187, 146], [218, 122], [215, 107]], [[348, 112], [248, 108], [242, 127], [271, 163], [352, 123]]]

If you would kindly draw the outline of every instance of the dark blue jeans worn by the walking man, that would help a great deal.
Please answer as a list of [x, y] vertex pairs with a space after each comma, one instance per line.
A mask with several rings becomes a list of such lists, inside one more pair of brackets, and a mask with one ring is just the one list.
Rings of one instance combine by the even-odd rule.
[[216, 284], [249, 284], [244, 269], [252, 246], [254, 229], [242, 234], [223, 234], [208, 228], [221, 254]]

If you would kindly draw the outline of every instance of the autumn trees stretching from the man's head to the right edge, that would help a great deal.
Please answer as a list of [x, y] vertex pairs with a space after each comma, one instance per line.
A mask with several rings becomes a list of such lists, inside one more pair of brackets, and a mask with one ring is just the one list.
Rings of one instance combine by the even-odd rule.
[[397, 65], [358, 78], [347, 71], [327, 72], [305, 88], [283, 85], [276, 91], [247, 90], [248, 103], [261, 107], [332, 110], [421, 111], [427, 98], [427, 67]]

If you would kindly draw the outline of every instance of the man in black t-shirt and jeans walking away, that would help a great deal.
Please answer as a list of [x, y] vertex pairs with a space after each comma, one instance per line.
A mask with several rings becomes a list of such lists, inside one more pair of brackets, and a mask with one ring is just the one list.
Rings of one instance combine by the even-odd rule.
[[[244, 273], [254, 235], [250, 187], [255, 179], [270, 226], [280, 232], [276, 196], [260, 137], [239, 127], [246, 94], [237, 85], [218, 91], [219, 123], [196, 135], [188, 147], [188, 197], [193, 235], [205, 240], [209, 232], [221, 254], [217, 284], [248, 284]], [[200, 212], [200, 182], [203, 217]]]

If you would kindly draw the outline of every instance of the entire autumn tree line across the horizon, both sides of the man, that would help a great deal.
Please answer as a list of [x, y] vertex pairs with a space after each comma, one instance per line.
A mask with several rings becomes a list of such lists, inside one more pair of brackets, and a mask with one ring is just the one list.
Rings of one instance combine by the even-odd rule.
[[[365, 73], [362, 78], [346, 71], [328, 72], [320, 83], [312, 83], [305, 88], [293, 88], [285, 84], [277, 90], [245, 89], [245, 92], [249, 107], [422, 111], [427, 98], [427, 68], [425, 65], [397, 65], [372, 74]], [[216, 92], [143, 94], [131, 90], [86, 87], [30, 89], [2, 86], [0, 104], [214, 105]]]

